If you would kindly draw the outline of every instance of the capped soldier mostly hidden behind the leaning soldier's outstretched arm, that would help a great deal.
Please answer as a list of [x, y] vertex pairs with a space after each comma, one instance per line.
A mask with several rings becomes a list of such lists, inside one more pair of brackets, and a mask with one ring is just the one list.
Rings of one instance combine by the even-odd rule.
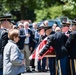
[[[49, 35], [54, 34], [55, 32], [52, 30], [52, 26], [45, 26], [45, 34], [47, 37]], [[54, 54], [54, 52], [52, 52]], [[48, 57], [48, 62], [49, 62], [49, 70], [50, 70], [50, 75], [56, 75], [56, 69], [55, 69], [55, 57]]]

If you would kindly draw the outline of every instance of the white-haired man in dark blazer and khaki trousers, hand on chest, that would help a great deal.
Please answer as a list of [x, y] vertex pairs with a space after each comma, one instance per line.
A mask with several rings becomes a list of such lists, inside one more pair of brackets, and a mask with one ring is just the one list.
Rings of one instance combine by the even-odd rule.
[[25, 63], [26, 63], [26, 71], [27, 72], [31, 72], [30, 71], [30, 60], [29, 60], [29, 56], [31, 51], [33, 50], [33, 33], [32, 31], [29, 29], [29, 23], [28, 22], [24, 22], [24, 30], [25, 30], [25, 42], [24, 42], [24, 56], [25, 56]]

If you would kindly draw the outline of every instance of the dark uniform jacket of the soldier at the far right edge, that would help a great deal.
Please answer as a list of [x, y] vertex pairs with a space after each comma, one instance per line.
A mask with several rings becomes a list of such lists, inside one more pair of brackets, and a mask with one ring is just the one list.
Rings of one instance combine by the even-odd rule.
[[76, 31], [71, 32], [65, 44], [71, 58], [76, 59]]

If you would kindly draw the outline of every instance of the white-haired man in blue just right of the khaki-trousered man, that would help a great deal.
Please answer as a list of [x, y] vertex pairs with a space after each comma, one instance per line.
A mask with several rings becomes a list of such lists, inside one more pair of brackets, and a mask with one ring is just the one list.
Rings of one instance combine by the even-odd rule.
[[[31, 51], [31, 53], [34, 51], [34, 49], [36, 48], [36, 46], [38, 45], [38, 41], [39, 41], [39, 33], [37, 31], [37, 28], [38, 28], [38, 25], [36, 22], [33, 23], [33, 28], [32, 28], [32, 33], [33, 33], [33, 36], [34, 36], [34, 39], [33, 39], [33, 50]], [[32, 71], [35, 71], [35, 59], [32, 59], [30, 61], [30, 65], [31, 65], [31, 68], [32, 68]]]

